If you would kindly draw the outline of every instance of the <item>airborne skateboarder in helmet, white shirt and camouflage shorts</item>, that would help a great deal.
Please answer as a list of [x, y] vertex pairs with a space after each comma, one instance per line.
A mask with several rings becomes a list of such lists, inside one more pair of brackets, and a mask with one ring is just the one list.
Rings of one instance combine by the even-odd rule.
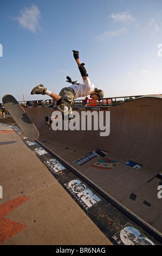
[[[72, 113], [72, 103], [73, 100], [77, 97], [84, 97], [87, 95], [90, 95], [90, 97], [94, 100], [102, 100], [103, 99], [103, 91], [95, 88], [94, 84], [90, 82], [87, 74], [87, 70], [85, 68], [85, 63], [80, 63], [79, 60], [79, 51], [73, 50], [73, 56], [77, 63], [77, 66], [79, 68], [80, 74], [83, 79], [83, 83], [77, 83], [77, 81], [73, 82], [72, 79], [67, 76], [67, 82], [72, 83], [71, 86], [63, 88], [59, 95], [50, 92], [43, 86], [43, 84], [40, 84], [36, 86], [33, 90], [31, 90], [31, 94], [46, 94], [50, 96], [52, 99], [56, 101], [56, 105], [58, 106], [59, 110], [62, 113], [62, 117], [64, 118], [64, 115]], [[71, 120], [72, 118], [68, 118], [68, 120]], [[48, 129], [50, 129], [50, 125], [53, 122], [53, 120], [50, 117], [45, 117], [46, 125]]]

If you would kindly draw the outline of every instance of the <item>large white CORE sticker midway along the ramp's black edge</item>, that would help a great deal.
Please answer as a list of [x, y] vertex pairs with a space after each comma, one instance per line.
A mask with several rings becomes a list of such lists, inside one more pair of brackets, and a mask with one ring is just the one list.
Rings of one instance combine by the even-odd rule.
[[97, 197], [89, 188], [86, 187], [80, 180], [71, 180], [64, 184], [73, 196], [88, 210], [93, 205], [98, 203], [101, 199]]

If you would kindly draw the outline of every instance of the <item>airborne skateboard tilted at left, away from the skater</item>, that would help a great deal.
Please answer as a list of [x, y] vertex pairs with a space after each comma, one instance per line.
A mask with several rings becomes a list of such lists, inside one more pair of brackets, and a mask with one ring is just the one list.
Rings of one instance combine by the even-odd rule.
[[3, 106], [10, 113], [11, 117], [15, 120], [24, 135], [32, 141], [38, 139], [40, 133], [15, 97], [10, 94], [4, 95], [2, 102]]

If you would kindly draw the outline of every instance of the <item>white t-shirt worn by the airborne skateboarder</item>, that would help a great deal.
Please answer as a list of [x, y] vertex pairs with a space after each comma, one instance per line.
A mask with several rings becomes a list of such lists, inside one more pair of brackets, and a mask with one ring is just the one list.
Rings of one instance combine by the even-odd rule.
[[94, 91], [94, 84], [90, 82], [89, 78], [83, 81], [83, 84], [72, 84], [70, 88], [74, 89], [74, 99], [77, 97], [85, 97]]

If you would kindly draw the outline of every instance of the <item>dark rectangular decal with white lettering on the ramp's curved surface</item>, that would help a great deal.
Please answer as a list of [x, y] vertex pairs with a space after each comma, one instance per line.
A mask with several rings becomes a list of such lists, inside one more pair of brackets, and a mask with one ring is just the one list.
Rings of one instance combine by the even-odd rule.
[[107, 154], [109, 154], [108, 151], [101, 150], [101, 149], [96, 149], [96, 150], [94, 150], [94, 151], [92, 151], [90, 153], [87, 153], [85, 156], [81, 157], [80, 159], [76, 160], [73, 163], [75, 163], [75, 164], [77, 164], [79, 166], [82, 166], [82, 164], [87, 163], [89, 160], [93, 159], [96, 156], [104, 157]]

